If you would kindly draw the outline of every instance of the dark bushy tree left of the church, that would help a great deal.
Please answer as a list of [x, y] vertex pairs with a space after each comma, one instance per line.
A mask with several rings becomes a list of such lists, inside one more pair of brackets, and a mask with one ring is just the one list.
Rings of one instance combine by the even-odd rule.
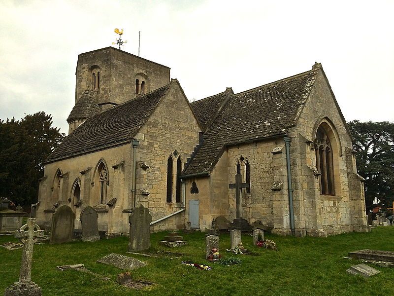
[[65, 137], [59, 131], [42, 111], [0, 119], [0, 197], [21, 205], [37, 201], [43, 162]]

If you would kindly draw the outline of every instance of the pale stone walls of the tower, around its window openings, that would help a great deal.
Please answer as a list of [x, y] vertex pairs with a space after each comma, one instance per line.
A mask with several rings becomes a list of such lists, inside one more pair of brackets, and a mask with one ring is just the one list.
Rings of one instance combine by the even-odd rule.
[[[100, 87], [92, 90], [92, 70], [99, 68]], [[131, 100], [135, 94], [135, 79], [145, 79], [145, 93], [169, 83], [170, 68], [140, 58], [128, 52], [106, 47], [78, 56], [75, 102], [86, 89], [93, 92], [103, 110]], [[112, 104], [107, 104], [112, 103]], [[104, 104], [104, 105], [103, 105]]]

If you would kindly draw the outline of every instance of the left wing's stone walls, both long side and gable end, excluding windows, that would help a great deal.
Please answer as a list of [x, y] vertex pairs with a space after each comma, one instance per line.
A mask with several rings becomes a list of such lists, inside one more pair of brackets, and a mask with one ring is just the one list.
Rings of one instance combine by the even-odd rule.
[[[183, 202], [175, 202], [176, 159], [184, 162], [198, 144], [200, 127], [189, 103], [178, 83], [173, 83], [168, 94], [141, 127], [136, 139], [136, 206], [142, 204], [150, 209], [152, 221], [172, 214], [183, 208]], [[166, 202], [167, 159], [177, 150], [174, 157], [173, 202]], [[99, 182], [98, 164], [105, 163], [109, 176], [106, 201], [96, 208], [99, 214], [99, 230], [109, 234], [128, 233], [128, 217], [134, 206], [132, 199], [133, 148], [131, 144], [110, 148], [74, 158], [60, 160], [45, 165], [45, 177], [40, 183], [37, 222], [45, 228], [50, 227], [52, 207], [55, 203], [70, 205], [79, 218], [85, 206], [98, 206]], [[54, 196], [54, 178], [58, 169], [62, 172], [61, 198]], [[83, 205], [73, 206], [72, 185], [79, 180]], [[96, 180], [96, 182], [95, 182]], [[183, 190], [181, 191], [183, 192]], [[71, 202], [68, 199], [71, 198]], [[105, 203], [117, 198], [113, 206]], [[182, 199], [183, 201], [183, 194]], [[80, 227], [78, 221], [75, 227]], [[153, 231], [184, 227], [184, 213], [154, 224]]]

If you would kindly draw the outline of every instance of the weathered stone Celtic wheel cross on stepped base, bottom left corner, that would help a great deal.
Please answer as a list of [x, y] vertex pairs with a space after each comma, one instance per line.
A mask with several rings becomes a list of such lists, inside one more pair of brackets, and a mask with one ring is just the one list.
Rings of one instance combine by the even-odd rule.
[[25, 244], [22, 253], [22, 265], [19, 273], [19, 281], [5, 290], [4, 296], [41, 296], [41, 288], [32, 282], [32, 259], [33, 246], [37, 238], [44, 235], [44, 230], [40, 230], [35, 224], [34, 218], [28, 218], [27, 224], [23, 225], [19, 231], [15, 232], [15, 237], [20, 238]]

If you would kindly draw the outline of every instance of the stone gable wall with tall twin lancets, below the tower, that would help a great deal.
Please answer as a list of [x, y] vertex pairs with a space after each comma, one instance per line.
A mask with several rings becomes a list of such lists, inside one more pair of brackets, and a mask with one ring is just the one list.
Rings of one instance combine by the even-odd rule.
[[[175, 200], [176, 163], [180, 157], [182, 169], [184, 168], [187, 158], [198, 144], [200, 131], [182, 89], [178, 83], [172, 83], [169, 94], [162, 99], [135, 136], [140, 141], [136, 154], [140, 164], [137, 166], [136, 175], [136, 202], [137, 205], [142, 204], [150, 209], [153, 222], [183, 208], [183, 190], [181, 202], [176, 203]], [[167, 202], [167, 160], [170, 155], [173, 157], [173, 201]], [[149, 168], [143, 169], [141, 164]], [[143, 195], [142, 190], [148, 191], [149, 195]], [[177, 229], [184, 226], [184, 213], [180, 213], [176, 218], [155, 224], [154, 230]]]

